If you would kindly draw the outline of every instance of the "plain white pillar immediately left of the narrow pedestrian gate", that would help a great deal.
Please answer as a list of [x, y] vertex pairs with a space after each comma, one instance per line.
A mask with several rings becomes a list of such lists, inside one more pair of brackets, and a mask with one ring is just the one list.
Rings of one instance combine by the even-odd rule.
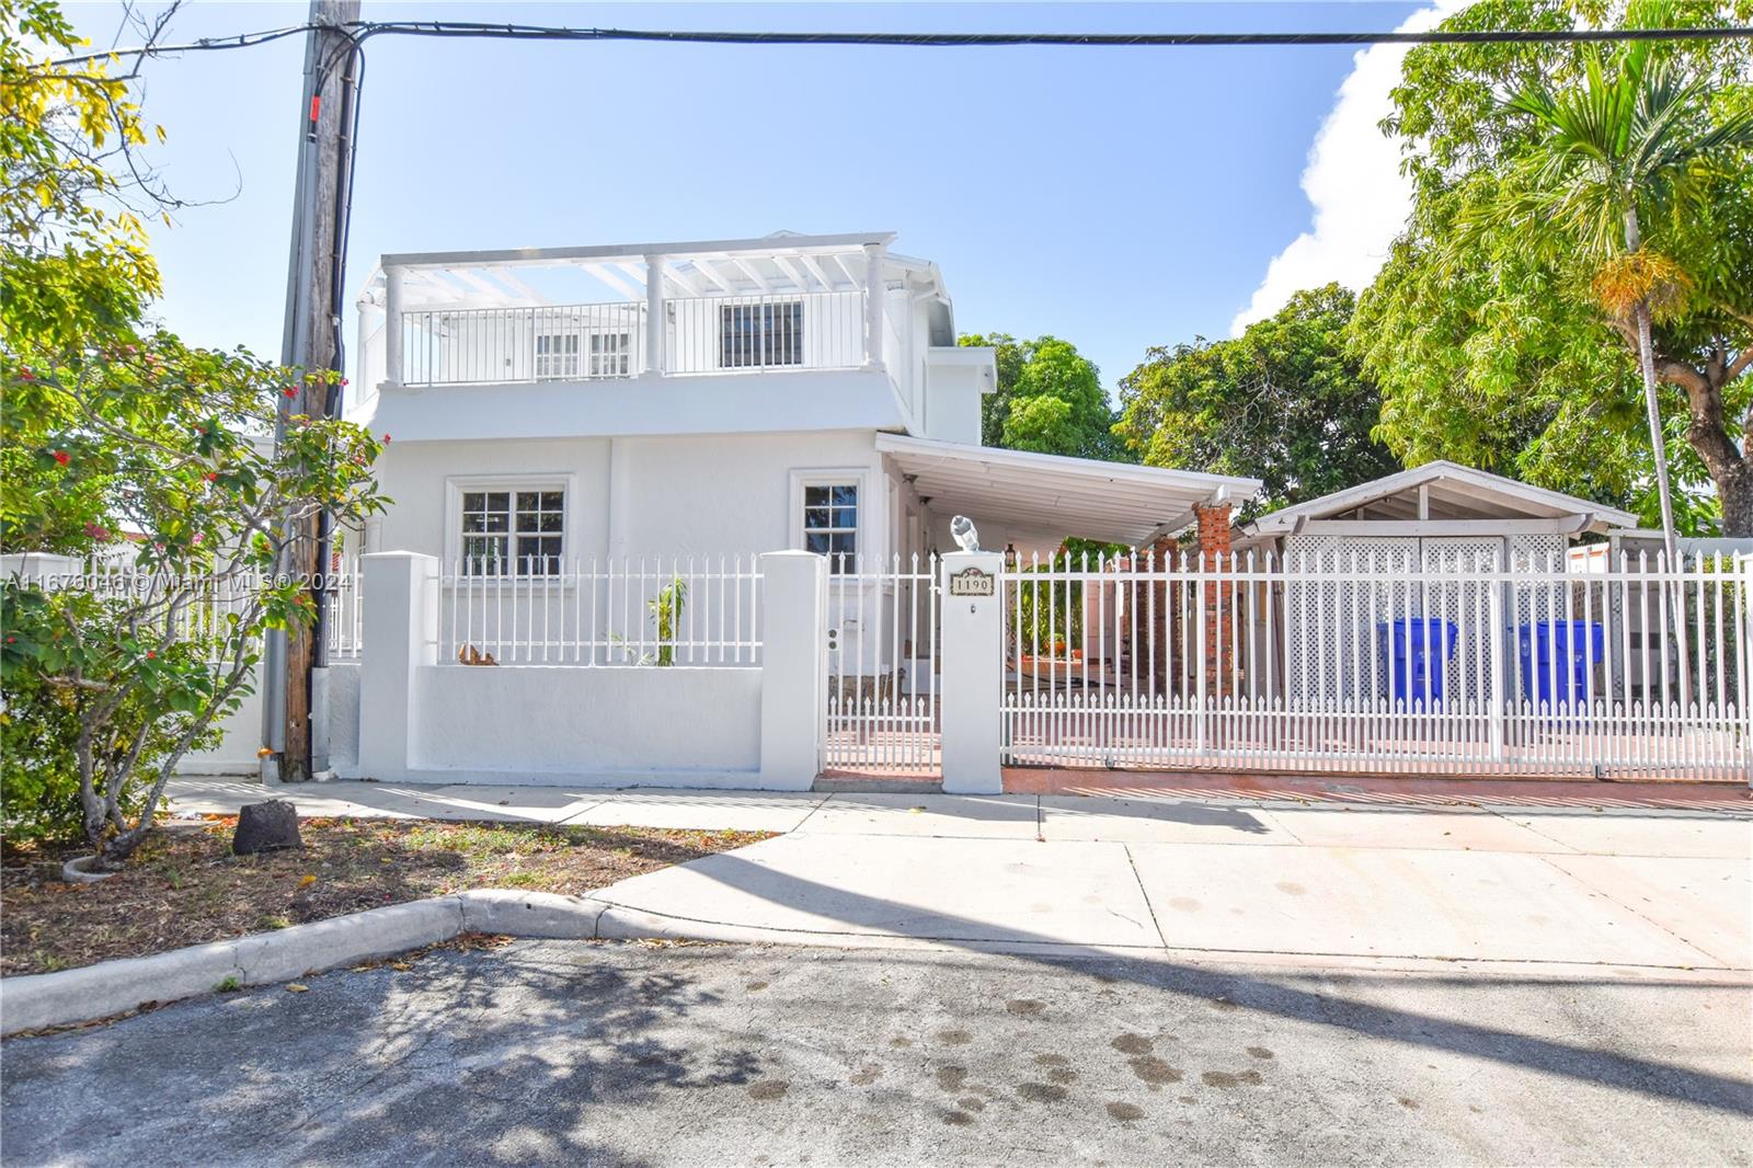
[[822, 766], [827, 559], [761, 556], [761, 786], [808, 791]]

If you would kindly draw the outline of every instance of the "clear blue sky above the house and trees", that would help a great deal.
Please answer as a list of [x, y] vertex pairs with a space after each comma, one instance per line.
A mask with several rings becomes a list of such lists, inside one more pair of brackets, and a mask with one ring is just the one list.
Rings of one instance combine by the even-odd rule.
[[[1416, 7], [366, 0], [365, 14], [1131, 32], [1394, 28]], [[98, 46], [112, 42], [117, 4], [70, 12]], [[181, 12], [172, 32], [195, 39], [303, 14], [303, 4], [209, 2]], [[302, 42], [287, 39], [147, 65], [147, 116], [170, 133], [156, 154], [167, 181], [182, 198], [228, 200], [154, 231], [167, 284], [160, 312], [188, 340], [279, 353], [302, 60]], [[1362, 86], [1369, 68], [1336, 47], [379, 37], [366, 49], [349, 302], [389, 251], [894, 230], [898, 251], [941, 265], [962, 331], [1064, 337], [1111, 388], [1150, 345], [1225, 337], [1250, 303], [1259, 314], [1304, 282], [1367, 279], [1366, 253], [1380, 253], [1395, 221], [1392, 154], [1373, 142], [1380, 93], [1357, 95], [1350, 109], [1338, 95]], [[1380, 89], [1392, 58], [1374, 74]], [[1327, 158], [1306, 177], [1318, 139]]]

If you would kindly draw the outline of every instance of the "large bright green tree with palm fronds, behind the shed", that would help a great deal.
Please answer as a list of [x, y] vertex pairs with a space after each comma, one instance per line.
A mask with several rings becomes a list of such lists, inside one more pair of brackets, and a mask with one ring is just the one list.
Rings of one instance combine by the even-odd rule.
[[[1485, 0], [1444, 28], [1749, 18], [1746, 0]], [[1735, 130], [1749, 89], [1741, 42], [1408, 54], [1383, 128], [1406, 147], [1413, 214], [1352, 326], [1395, 454], [1455, 458], [1658, 521], [1643, 302], [1676, 524], [1720, 517], [1727, 533], [1753, 533], [1753, 167]]]

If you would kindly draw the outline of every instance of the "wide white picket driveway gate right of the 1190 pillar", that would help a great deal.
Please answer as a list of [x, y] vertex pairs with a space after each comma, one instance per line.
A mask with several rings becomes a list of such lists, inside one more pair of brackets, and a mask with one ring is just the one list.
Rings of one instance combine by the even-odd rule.
[[1010, 765], [1706, 779], [1753, 766], [1746, 559], [1586, 575], [1560, 559], [1036, 559], [1010, 563], [1001, 591]]

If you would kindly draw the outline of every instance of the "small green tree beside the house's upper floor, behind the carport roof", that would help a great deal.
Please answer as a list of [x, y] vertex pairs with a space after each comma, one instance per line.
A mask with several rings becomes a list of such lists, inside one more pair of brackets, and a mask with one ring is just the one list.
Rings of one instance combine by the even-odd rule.
[[1057, 337], [962, 337], [994, 349], [997, 389], [980, 405], [980, 442], [1036, 454], [1131, 461], [1096, 365]]

